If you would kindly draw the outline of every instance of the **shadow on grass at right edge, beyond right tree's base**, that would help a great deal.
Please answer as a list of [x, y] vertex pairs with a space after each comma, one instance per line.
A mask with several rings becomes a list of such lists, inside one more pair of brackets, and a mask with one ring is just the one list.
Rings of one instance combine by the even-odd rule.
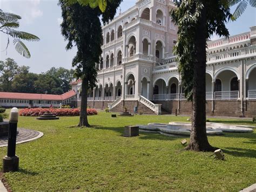
[[232, 156], [256, 158], [256, 150], [254, 149], [226, 147], [223, 151], [224, 154], [226, 153]]

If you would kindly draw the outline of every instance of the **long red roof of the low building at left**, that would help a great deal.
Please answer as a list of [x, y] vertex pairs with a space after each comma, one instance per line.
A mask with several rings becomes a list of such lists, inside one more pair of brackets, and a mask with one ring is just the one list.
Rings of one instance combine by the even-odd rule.
[[0, 99], [27, 99], [27, 100], [65, 100], [75, 96], [75, 91], [69, 91], [62, 95], [37, 94], [37, 93], [12, 93], [0, 92]]

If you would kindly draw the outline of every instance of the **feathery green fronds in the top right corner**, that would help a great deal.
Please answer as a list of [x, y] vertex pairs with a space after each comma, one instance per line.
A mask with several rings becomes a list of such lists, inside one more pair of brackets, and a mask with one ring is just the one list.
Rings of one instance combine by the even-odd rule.
[[256, 8], [256, 0], [230, 0], [230, 6], [238, 4], [237, 9], [235, 9], [231, 19], [236, 20], [238, 17], [244, 13], [245, 9], [247, 8], [248, 3], [253, 7]]

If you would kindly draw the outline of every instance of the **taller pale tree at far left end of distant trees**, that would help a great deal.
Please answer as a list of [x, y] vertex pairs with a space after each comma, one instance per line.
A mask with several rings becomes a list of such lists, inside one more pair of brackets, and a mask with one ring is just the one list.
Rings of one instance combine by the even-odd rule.
[[15, 62], [14, 59], [7, 58], [6, 61], [0, 61], [0, 80], [2, 83], [2, 91], [10, 92], [11, 91], [11, 83], [14, 80], [14, 77], [22, 72], [28, 71], [29, 67], [21, 66]]

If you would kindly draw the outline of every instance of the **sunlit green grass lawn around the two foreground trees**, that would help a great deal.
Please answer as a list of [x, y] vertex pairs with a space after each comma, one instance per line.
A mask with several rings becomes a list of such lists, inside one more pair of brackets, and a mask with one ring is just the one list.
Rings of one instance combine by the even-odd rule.
[[[180, 144], [185, 136], [122, 136], [125, 125], [186, 119], [169, 115], [111, 118], [111, 113], [100, 112], [89, 116], [95, 128], [70, 128], [78, 124], [77, 116], [56, 121], [20, 116], [19, 127], [44, 136], [17, 145], [20, 170], [4, 177], [14, 191], [238, 191], [256, 183], [256, 129], [208, 136], [213, 146], [224, 149], [225, 161], [215, 160], [212, 153], [185, 151]], [[256, 126], [252, 121], [211, 121]], [[6, 155], [6, 147], [0, 148], [0, 155]]]

